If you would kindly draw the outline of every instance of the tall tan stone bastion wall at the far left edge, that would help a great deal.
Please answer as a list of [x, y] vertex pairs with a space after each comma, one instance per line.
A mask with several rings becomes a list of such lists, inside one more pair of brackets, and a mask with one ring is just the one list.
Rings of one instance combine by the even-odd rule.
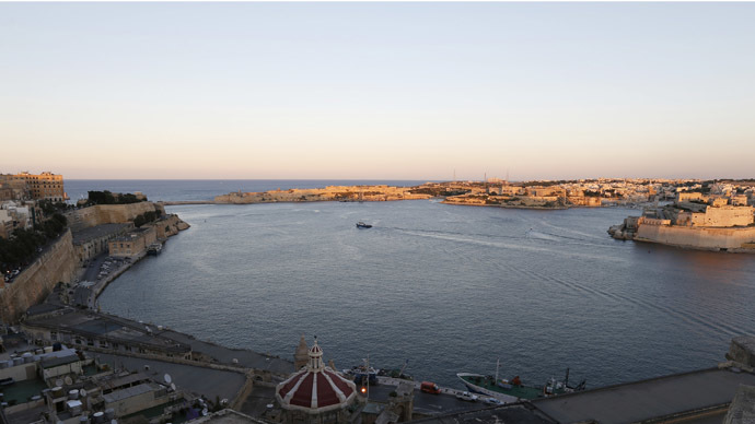
[[42, 302], [55, 285], [71, 282], [79, 263], [71, 232], [67, 231], [34, 263], [0, 291], [0, 318], [14, 322], [30, 306]]

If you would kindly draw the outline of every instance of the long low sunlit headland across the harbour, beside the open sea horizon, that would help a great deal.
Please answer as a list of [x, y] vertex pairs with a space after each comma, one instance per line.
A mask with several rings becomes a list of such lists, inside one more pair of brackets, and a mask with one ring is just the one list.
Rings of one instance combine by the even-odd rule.
[[328, 186], [315, 189], [289, 189], [263, 192], [231, 192], [217, 196], [216, 203], [276, 203], [276, 202], [322, 202], [322, 201], [393, 201], [430, 199], [427, 193], [413, 192], [414, 187], [392, 186]]

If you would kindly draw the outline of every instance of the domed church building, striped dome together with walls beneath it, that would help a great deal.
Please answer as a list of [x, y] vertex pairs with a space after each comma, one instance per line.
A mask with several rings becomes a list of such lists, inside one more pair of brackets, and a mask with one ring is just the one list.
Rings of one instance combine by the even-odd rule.
[[276, 387], [276, 400], [283, 408], [283, 423], [346, 423], [358, 414], [348, 407], [358, 403], [357, 387], [323, 363], [323, 350], [310, 349], [306, 366]]

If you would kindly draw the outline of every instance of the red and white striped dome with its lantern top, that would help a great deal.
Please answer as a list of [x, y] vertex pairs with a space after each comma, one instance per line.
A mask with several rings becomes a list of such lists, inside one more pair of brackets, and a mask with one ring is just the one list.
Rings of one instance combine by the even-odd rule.
[[311, 414], [346, 408], [356, 396], [353, 382], [323, 365], [317, 339], [310, 350], [306, 367], [276, 387], [276, 399], [281, 407]]

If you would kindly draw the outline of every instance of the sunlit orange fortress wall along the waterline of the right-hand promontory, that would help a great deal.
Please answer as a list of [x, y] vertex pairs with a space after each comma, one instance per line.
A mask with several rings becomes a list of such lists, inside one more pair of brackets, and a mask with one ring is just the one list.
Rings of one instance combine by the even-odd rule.
[[[662, 243], [694, 249], [747, 249], [755, 242], [755, 227], [704, 228], [640, 224], [635, 240]], [[755, 249], [750, 249], [755, 251]]]

